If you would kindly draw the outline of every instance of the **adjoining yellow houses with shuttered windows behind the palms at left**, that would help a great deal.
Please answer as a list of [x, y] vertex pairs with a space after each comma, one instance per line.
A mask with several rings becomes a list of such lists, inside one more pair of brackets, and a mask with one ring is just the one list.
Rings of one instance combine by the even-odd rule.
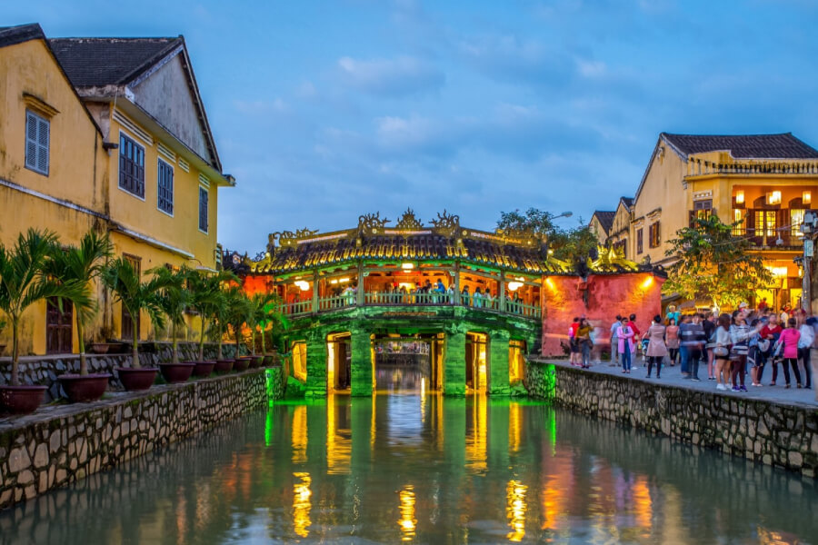
[[[3, 243], [29, 227], [76, 243], [95, 226], [143, 272], [216, 268], [217, 192], [234, 180], [222, 173], [182, 36], [48, 40], [39, 25], [0, 28], [0, 71]], [[92, 334], [133, 338], [121, 305], [105, 293], [101, 302]], [[30, 309], [21, 352], [75, 350], [66, 310]], [[164, 335], [146, 319], [138, 331]]]

